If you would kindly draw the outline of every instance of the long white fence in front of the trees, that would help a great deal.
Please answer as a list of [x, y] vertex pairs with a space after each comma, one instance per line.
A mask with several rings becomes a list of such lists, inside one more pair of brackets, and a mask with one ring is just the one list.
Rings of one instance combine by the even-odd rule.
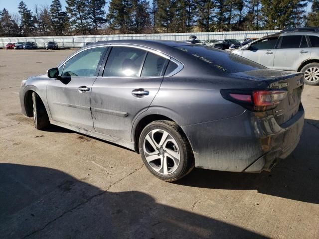
[[147, 39], [147, 40], [175, 40], [184, 41], [189, 35], [196, 35], [200, 40], [207, 39], [237, 39], [243, 41], [247, 37], [262, 37], [280, 30], [268, 31], [224, 31], [224, 32], [191, 32], [191, 33], [160, 33], [160, 34], [123, 34], [123, 35], [87, 35], [87, 36], [36, 36], [36, 37], [1, 37], [0, 47], [9, 42], [35, 41], [38, 47], [45, 47], [48, 41], [56, 41], [59, 47], [82, 47], [87, 42], [124, 40], [124, 39]]

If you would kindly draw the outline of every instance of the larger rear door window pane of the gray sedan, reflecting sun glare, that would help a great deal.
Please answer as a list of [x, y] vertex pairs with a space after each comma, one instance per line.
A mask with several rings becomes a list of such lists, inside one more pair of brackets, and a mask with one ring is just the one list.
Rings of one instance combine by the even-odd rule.
[[133, 47], [113, 47], [103, 76], [140, 76], [146, 51]]

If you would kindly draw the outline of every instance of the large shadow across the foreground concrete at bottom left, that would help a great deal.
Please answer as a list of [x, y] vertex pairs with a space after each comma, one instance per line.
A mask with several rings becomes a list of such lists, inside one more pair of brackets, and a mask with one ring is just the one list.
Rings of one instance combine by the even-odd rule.
[[137, 192], [109, 192], [62, 171], [0, 164], [2, 238], [265, 238], [157, 203]]

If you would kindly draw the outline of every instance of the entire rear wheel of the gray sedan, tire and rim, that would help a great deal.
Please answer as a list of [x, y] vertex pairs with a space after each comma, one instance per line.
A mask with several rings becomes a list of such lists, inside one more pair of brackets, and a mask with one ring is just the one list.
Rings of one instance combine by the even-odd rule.
[[139, 149], [144, 164], [161, 180], [172, 182], [194, 167], [190, 144], [181, 128], [169, 120], [157, 120], [142, 131]]

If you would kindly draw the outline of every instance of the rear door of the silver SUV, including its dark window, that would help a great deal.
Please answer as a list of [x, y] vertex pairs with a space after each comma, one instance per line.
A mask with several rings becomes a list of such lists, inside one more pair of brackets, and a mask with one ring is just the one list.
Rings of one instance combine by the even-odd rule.
[[274, 69], [297, 71], [299, 66], [310, 59], [311, 48], [304, 35], [286, 35], [279, 38]]

